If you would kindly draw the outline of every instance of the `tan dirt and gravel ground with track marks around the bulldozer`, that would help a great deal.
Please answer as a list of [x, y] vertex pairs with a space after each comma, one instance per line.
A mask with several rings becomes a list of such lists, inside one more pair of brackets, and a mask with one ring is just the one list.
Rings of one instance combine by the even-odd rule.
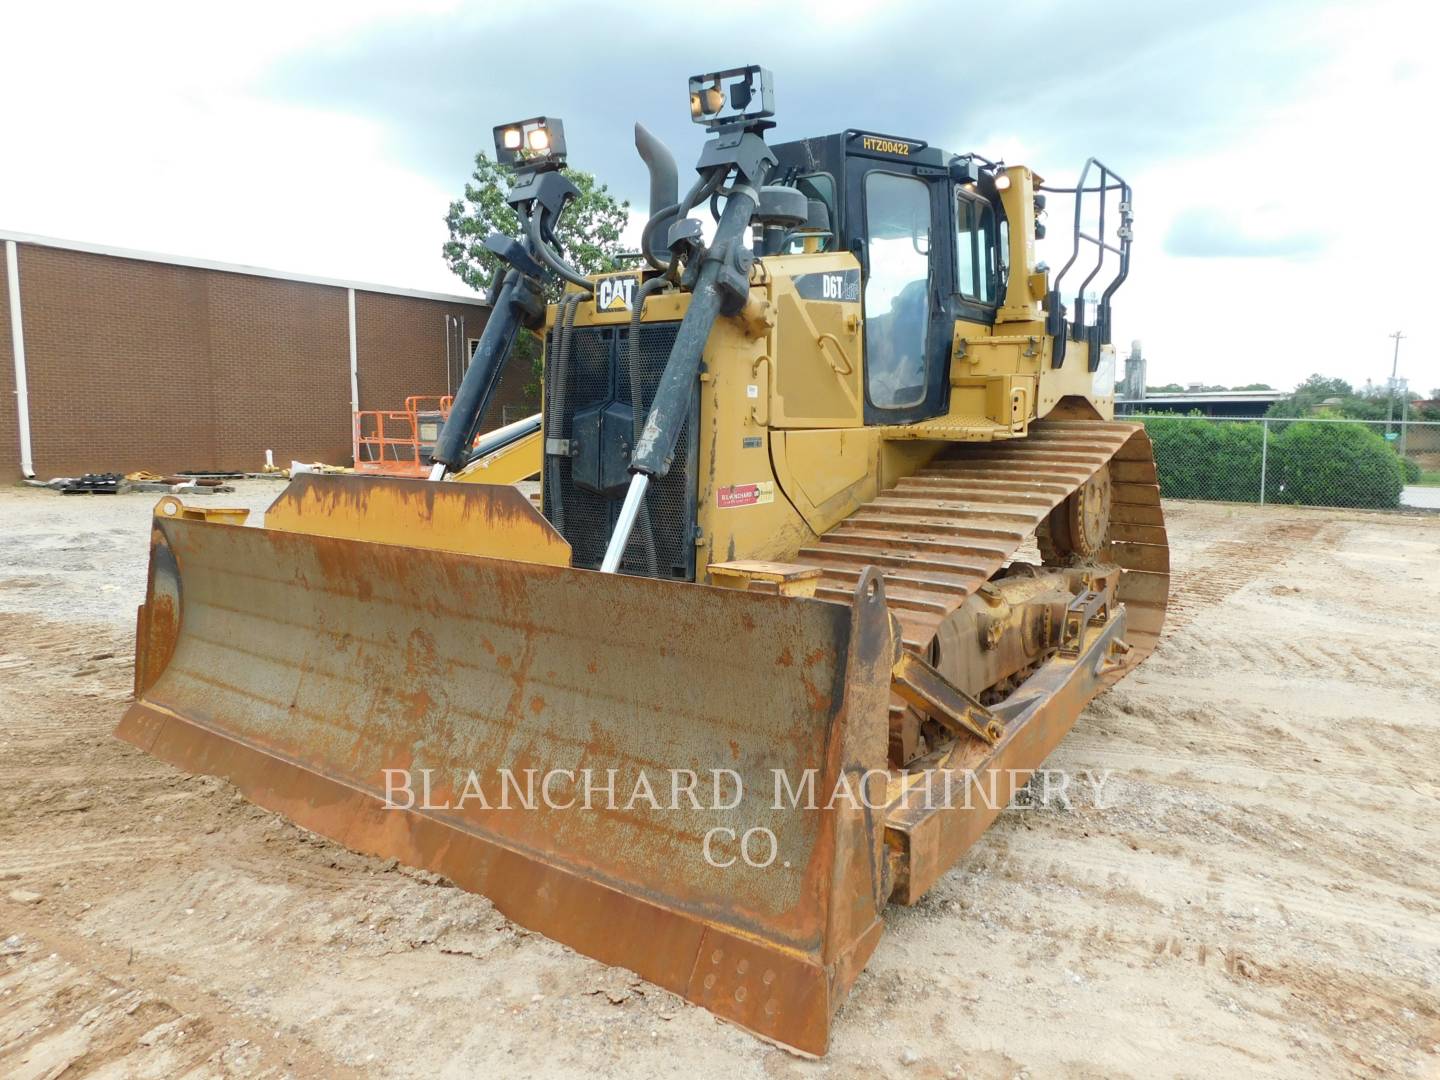
[[1437, 516], [1166, 505], [1102, 798], [890, 909], [805, 1061], [112, 739], [154, 501], [0, 492], [0, 1076], [1440, 1076]]

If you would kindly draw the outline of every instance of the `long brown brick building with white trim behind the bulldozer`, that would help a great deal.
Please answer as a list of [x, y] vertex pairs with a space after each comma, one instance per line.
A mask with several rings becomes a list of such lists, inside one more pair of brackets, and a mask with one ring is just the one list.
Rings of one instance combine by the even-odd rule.
[[[452, 392], [478, 297], [0, 232], [0, 482], [348, 464], [351, 413]], [[516, 419], [507, 372], [487, 426]]]

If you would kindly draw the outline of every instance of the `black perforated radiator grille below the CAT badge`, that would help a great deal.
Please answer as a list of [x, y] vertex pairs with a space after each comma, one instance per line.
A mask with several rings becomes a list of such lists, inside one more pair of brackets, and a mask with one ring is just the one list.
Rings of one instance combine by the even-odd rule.
[[[670, 348], [680, 331], [678, 323], [647, 323], [639, 328], [639, 389], [641, 408], [649, 409], [660, 384], [660, 376], [670, 359]], [[570, 418], [576, 412], [609, 402], [631, 403], [629, 389], [629, 327], [576, 327], [570, 338], [570, 359], [566, 364], [563, 415], [556, 415], [560, 400], [554, 384], [557, 364], [554, 334], [546, 340], [546, 439], [570, 439]], [[675, 464], [664, 480], [652, 481], [645, 495], [649, 536], [654, 543], [654, 576], [694, 580], [696, 577], [696, 452], [690, 432], [698, 423], [696, 412], [681, 428], [675, 446]], [[546, 458], [544, 516], [570, 543], [575, 566], [595, 570], [605, 557], [619, 516], [624, 494], [606, 497], [575, 485], [570, 459]], [[641, 517], [625, 550], [621, 569], [632, 575], [649, 575], [651, 559], [645, 537], [645, 516]]]

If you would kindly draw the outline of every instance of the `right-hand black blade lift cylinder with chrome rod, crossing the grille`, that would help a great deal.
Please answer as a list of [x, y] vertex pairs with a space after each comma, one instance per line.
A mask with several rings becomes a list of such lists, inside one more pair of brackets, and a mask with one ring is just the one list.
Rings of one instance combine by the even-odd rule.
[[645, 418], [645, 428], [635, 441], [635, 454], [631, 458], [631, 485], [625, 492], [625, 504], [621, 507], [611, 543], [605, 549], [605, 560], [600, 563], [603, 573], [615, 573], [619, 569], [629, 534], [635, 528], [635, 520], [645, 503], [649, 478], [664, 477], [670, 472], [680, 429], [690, 415], [690, 402], [696, 393], [706, 341], [710, 340], [710, 331], [714, 328], [724, 302], [724, 294], [719, 284], [720, 271], [726, 262], [734, 258], [737, 248], [744, 243], [757, 202], [759, 193], [747, 184], [736, 184], [726, 200], [714, 243], [700, 266], [690, 307], [680, 323], [680, 333], [675, 334], [675, 344], [670, 350], [670, 360], [665, 361], [665, 372], [660, 377], [660, 387], [655, 390], [649, 415]]

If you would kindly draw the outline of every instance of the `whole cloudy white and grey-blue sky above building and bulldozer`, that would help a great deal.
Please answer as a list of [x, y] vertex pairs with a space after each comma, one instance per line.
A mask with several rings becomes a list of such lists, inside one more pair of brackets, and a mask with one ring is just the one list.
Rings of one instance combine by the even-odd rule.
[[[1440, 387], [1428, 259], [1440, 14], [1410, 3], [857, 0], [710, 7], [255, 0], [0, 4], [0, 229], [442, 292], [446, 204], [491, 127], [563, 117], [647, 202], [685, 78], [775, 75], [773, 141], [858, 127], [1135, 189], [1122, 353], [1152, 384], [1313, 372]], [[1043, 255], [1060, 265], [1067, 209]], [[1066, 239], [1061, 246], [1067, 248]]]

